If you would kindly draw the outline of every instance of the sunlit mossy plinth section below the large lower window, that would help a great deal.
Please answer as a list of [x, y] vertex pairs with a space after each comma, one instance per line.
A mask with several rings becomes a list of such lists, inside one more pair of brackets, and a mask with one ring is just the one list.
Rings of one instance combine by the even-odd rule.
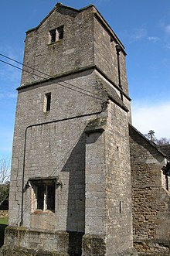
[[[20, 247], [23, 250], [29, 250], [31, 248], [32, 251], [39, 253], [42, 251], [57, 251], [61, 255], [64, 254], [67, 256], [66, 252], [69, 247], [69, 234], [62, 231], [43, 232], [42, 230], [30, 230], [25, 227], [8, 226], [5, 229], [5, 247], [10, 247], [11, 250], [12, 247], [14, 249]], [[18, 251], [18, 249], [16, 251]]]

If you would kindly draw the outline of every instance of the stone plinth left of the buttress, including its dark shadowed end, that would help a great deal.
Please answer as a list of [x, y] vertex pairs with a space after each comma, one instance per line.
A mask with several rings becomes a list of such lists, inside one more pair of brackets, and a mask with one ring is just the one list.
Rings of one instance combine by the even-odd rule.
[[[30, 230], [6, 227], [1, 256], [69, 256], [81, 255], [83, 234], [77, 232]], [[98, 255], [97, 255], [98, 256]]]

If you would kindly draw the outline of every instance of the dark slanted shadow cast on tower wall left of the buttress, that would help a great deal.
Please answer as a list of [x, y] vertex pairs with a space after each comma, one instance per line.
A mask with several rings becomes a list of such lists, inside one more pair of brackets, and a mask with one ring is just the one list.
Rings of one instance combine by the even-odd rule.
[[69, 233], [69, 255], [82, 254], [85, 232], [85, 155], [86, 134], [80, 136], [62, 172], [70, 172], [66, 229]]

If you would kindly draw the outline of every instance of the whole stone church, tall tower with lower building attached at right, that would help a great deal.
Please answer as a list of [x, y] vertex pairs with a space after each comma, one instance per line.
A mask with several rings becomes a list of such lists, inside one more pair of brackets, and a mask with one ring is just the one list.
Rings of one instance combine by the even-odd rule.
[[93, 5], [26, 32], [2, 255], [168, 255], [165, 155], [131, 126], [125, 56]]

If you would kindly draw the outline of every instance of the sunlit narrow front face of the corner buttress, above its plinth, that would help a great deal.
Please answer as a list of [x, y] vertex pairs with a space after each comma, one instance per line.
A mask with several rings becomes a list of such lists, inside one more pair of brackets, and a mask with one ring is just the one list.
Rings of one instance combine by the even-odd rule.
[[101, 131], [87, 134], [85, 234], [106, 235], [105, 135]]

